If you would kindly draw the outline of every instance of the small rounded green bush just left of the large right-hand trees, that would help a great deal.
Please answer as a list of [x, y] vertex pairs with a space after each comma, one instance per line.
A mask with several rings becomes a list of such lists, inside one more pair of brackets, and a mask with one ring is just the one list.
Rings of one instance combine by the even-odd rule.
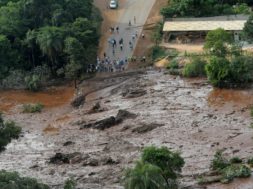
[[206, 75], [205, 71], [206, 61], [194, 57], [190, 64], [186, 64], [183, 69], [183, 76], [185, 77], [202, 77]]

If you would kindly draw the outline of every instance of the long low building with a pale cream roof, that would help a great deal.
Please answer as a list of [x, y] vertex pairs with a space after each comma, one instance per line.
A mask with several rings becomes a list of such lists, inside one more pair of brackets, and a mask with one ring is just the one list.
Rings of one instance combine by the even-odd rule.
[[232, 32], [234, 39], [239, 41], [247, 20], [248, 17], [242, 15], [168, 20], [163, 26], [165, 42], [176, 40], [177, 43], [190, 43], [203, 40], [209, 31], [218, 28]]

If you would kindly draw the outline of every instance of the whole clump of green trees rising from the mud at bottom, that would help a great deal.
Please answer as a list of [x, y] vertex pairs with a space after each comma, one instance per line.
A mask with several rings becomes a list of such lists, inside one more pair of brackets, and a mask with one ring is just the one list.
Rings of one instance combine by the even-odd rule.
[[146, 147], [135, 167], [126, 170], [125, 189], [176, 188], [176, 179], [183, 166], [184, 160], [179, 153], [166, 147]]

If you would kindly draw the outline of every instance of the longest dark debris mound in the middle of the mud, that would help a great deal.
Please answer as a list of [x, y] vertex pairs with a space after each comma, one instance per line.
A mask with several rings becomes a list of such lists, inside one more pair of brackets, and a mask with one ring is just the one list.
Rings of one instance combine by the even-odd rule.
[[111, 116], [100, 121], [96, 121], [94, 123], [88, 123], [80, 126], [80, 129], [93, 128], [104, 130], [110, 127], [113, 127], [117, 124], [122, 123], [125, 119], [135, 119], [137, 117], [136, 114], [130, 113], [126, 110], [119, 110], [116, 117]]

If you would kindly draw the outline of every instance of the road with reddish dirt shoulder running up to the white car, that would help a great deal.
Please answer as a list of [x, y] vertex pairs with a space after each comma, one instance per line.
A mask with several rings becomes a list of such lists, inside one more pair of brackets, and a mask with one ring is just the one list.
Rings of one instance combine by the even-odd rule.
[[[143, 25], [154, 3], [155, 0], [121, 0], [119, 1], [118, 10], [111, 10], [106, 9], [108, 1], [101, 3], [101, 1], [95, 0], [95, 4], [103, 12], [105, 19], [102, 27], [103, 36], [100, 44], [100, 56], [105, 52], [111, 60], [124, 60], [125, 58], [131, 57], [138, 38], [141, 35]], [[129, 26], [129, 22], [131, 22], [131, 26]], [[119, 32], [116, 30], [110, 32], [110, 27], [119, 27]], [[120, 50], [119, 46], [119, 40], [121, 38], [124, 41], [123, 50]], [[108, 43], [109, 39], [115, 39], [117, 42], [114, 53], [112, 44]], [[132, 49], [130, 48], [129, 42], [133, 44]]]

